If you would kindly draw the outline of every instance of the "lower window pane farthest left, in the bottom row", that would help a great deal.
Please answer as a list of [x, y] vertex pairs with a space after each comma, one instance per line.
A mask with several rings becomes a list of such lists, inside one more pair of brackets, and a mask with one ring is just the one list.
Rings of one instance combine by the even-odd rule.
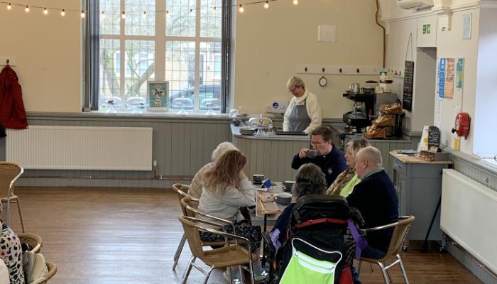
[[100, 97], [119, 97], [119, 40], [100, 40]]

